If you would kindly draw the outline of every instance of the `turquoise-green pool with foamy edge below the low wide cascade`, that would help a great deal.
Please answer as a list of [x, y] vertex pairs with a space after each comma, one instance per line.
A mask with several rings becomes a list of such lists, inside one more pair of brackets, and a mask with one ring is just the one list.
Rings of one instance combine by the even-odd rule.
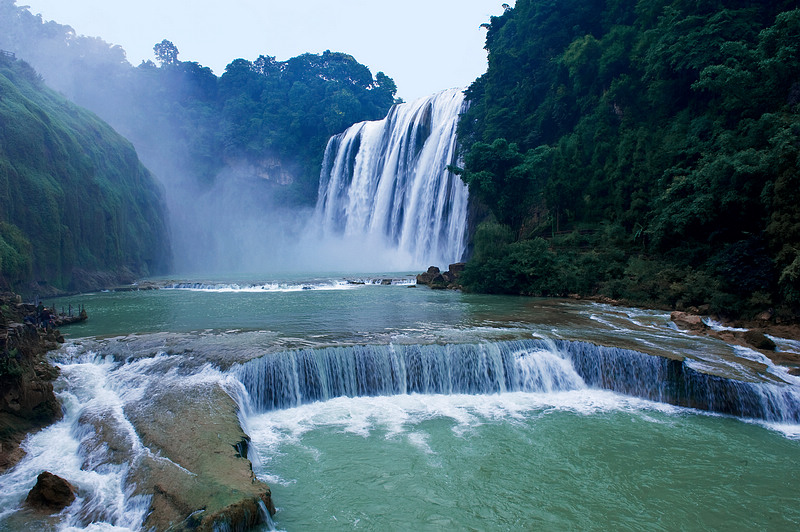
[[334, 400], [249, 420], [286, 530], [793, 530], [800, 446], [608, 392]]

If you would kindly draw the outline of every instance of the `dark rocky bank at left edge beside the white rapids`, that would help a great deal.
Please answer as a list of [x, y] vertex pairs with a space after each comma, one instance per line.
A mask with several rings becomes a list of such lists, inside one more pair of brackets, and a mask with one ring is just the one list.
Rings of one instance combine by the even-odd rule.
[[35, 312], [14, 294], [0, 295], [0, 473], [22, 458], [19, 444], [26, 434], [61, 417], [53, 393], [58, 370], [45, 355], [63, 338], [57, 330], [26, 323]]

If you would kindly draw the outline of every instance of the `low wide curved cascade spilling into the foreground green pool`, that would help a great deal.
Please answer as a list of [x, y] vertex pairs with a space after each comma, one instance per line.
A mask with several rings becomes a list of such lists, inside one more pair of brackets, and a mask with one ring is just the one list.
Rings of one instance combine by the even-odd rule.
[[258, 411], [335, 397], [554, 393], [600, 388], [767, 421], [800, 422], [794, 386], [743, 382], [684, 361], [585, 342], [357, 345], [270, 354], [234, 368]]

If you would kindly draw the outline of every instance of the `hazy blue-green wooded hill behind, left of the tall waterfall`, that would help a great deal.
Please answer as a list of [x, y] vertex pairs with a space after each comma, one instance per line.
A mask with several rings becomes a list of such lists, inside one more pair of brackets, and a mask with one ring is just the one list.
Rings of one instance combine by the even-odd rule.
[[232, 61], [221, 76], [181, 61], [168, 40], [158, 66], [131, 66], [125, 52], [69, 26], [44, 22], [15, 0], [0, 0], [0, 49], [11, 50], [74, 102], [130, 139], [163, 180], [210, 185], [223, 170], [248, 167], [301, 202], [316, 199], [327, 140], [362, 120], [383, 118], [394, 82], [352, 56], [325, 51], [287, 61], [262, 55]]

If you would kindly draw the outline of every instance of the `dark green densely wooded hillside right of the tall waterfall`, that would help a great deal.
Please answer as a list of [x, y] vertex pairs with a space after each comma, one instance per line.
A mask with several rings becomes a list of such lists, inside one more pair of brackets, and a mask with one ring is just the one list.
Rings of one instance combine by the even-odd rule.
[[796, 1], [518, 0], [468, 90], [465, 283], [800, 310]]

